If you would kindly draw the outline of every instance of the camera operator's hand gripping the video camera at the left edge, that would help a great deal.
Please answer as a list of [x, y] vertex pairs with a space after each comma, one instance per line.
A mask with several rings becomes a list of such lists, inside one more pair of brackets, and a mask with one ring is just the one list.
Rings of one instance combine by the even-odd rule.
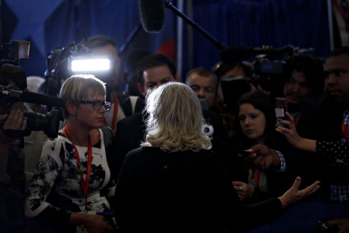
[[[13, 109], [10, 114], [0, 115], [0, 121], [2, 120], [5, 120], [2, 126], [4, 130], [25, 130], [27, 127], [27, 120], [23, 118], [23, 111], [21, 109]], [[7, 151], [8, 146], [14, 139], [0, 132], [0, 150]]]

